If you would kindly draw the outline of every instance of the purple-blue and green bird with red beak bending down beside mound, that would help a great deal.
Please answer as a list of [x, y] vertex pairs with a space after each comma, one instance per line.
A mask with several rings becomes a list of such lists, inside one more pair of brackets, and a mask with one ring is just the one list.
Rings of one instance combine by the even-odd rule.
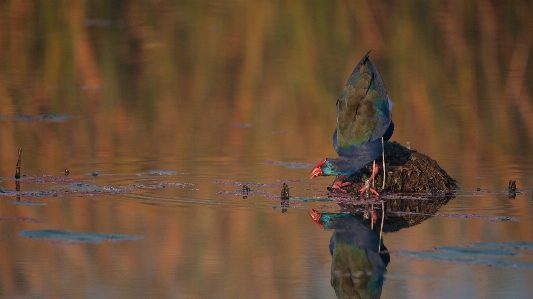
[[[375, 161], [384, 150], [384, 143], [394, 132], [392, 102], [385, 83], [366, 53], [355, 66], [336, 102], [337, 126], [333, 147], [337, 158], [325, 158], [309, 173], [310, 178], [337, 176], [332, 187], [342, 190], [349, 185], [349, 176]], [[372, 181], [378, 167], [374, 163]], [[366, 190], [361, 189], [361, 193]], [[378, 195], [374, 189], [371, 191]]]

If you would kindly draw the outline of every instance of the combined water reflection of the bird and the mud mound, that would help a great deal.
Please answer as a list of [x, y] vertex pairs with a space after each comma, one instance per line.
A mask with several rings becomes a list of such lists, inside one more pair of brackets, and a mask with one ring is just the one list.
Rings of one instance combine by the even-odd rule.
[[333, 229], [331, 286], [337, 298], [380, 298], [390, 255], [383, 244], [383, 233], [394, 233], [433, 217], [455, 193], [390, 194], [379, 202], [336, 198], [338, 213], [309, 216], [323, 229]]

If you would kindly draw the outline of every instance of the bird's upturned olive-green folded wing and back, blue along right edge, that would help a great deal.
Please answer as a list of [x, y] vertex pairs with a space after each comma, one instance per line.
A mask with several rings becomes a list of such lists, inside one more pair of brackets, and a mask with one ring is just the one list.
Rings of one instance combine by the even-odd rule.
[[389, 101], [385, 84], [367, 53], [337, 100], [333, 146], [339, 156], [355, 155], [361, 145], [381, 139], [391, 124]]

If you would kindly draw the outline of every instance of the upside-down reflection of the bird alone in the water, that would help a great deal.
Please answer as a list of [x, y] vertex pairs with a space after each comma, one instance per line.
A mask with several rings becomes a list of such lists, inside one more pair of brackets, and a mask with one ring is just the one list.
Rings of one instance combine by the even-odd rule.
[[[376, 217], [371, 212], [370, 225]], [[331, 286], [337, 298], [380, 298], [390, 256], [380, 238], [379, 226], [370, 225], [352, 214], [320, 213], [309, 210], [311, 218], [324, 229], [333, 229], [329, 250]]]

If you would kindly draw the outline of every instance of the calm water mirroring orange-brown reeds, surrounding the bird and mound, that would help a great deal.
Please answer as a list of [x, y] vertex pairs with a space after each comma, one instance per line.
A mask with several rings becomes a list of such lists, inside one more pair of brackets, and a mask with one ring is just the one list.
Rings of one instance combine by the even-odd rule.
[[[0, 298], [337, 298], [354, 240], [381, 298], [530, 298], [531, 4], [2, 5]], [[369, 49], [462, 188], [382, 244], [308, 179]]]

